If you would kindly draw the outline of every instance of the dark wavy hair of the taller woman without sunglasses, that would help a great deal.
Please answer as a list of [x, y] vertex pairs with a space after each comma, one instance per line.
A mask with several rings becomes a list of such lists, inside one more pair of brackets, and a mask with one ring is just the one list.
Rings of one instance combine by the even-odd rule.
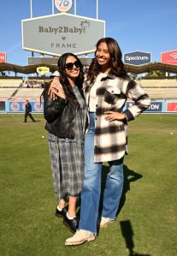
[[[115, 76], [125, 76], [127, 75], [125, 69], [124, 69], [124, 63], [121, 60], [122, 54], [121, 54], [121, 49], [118, 43], [115, 41], [115, 39], [111, 38], [103, 38], [99, 39], [97, 41], [96, 47], [98, 48], [101, 43], [106, 43], [108, 46], [109, 54], [110, 54], [110, 63], [109, 66], [111, 68], [111, 73], [115, 74]], [[95, 51], [95, 56], [96, 56]], [[90, 81], [93, 83], [97, 77], [97, 74], [101, 72], [101, 67], [97, 63], [97, 58], [94, 57], [92, 59], [90, 68], [87, 73], [87, 78], [86, 80]]]

